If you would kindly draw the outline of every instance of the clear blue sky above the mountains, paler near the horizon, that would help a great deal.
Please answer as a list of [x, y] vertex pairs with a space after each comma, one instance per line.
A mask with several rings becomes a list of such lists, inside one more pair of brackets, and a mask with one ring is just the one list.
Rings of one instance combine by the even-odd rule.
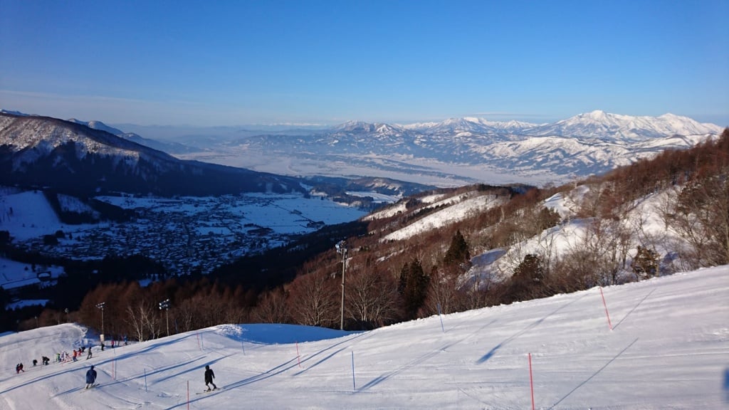
[[729, 125], [729, 1], [16, 1], [0, 107], [141, 125]]

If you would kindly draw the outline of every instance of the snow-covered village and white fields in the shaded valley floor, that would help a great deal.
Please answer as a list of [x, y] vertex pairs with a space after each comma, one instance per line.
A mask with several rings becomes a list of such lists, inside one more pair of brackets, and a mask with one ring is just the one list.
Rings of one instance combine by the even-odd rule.
[[[66, 198], [70, 203], [66, 210], [93, 212], [74, 197]], [[248, 252], [280, 246], [291, 236], [356, 220], [366, 214], [357, 206], [316, 196], [304, 198], [299, 193], [96, 199], [133, 212], [133, 220], [69, 225], [56, 216], [42, 192], [5, 188], [0, 196], [0, 227], [11, 231], [17, 247], [28, 252], [42, 251], [66, 258], [85, 255], [93, 259], [109, 254], [142, 254], [154, 258], [168, 271], [208, 274], [222, 263]], [[44, 241], [47, 236], [55, 236], [57, 240], [47, 243]], [[2, 285], [8, 288], [13, 281], [44, 271], [25, 269], [26, 266], [20, 266], [20, 271], [8, 267]]]

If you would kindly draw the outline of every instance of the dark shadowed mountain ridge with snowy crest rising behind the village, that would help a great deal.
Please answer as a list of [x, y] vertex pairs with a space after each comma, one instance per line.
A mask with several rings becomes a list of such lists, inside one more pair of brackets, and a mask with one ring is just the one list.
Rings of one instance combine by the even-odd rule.
[[0, 114], [0, 147], [0, 184], [11, 186], [85, 195], [303, 191], [294, 178], [179, 160], [107, 131], [50, 117]]

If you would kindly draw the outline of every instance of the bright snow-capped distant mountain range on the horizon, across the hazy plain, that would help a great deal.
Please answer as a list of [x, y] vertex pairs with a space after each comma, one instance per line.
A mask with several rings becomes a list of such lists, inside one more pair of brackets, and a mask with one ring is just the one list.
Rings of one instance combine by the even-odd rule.
[[601, 174], [721, 132], [718, 125], [671, 114], [631, 117], [593, 111], [542, 125], [473, 117], [410, 125], [353, 121], [313, 136], [258, 136], [238, 144], [263, 155], [305, 155], [415, 177], [539, 185]]

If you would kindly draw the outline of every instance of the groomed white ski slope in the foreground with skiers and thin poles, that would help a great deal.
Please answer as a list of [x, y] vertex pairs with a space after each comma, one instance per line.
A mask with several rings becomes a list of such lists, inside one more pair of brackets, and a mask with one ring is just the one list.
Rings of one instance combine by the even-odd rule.
[[[219, 325], [32, 366], [94, 336], [64, 324], [0, 336], [0, 409], [727, 409], [728, 319], [720, 266], [367, 332]], [[205, 365], [219, 390], [197, 394]]]

